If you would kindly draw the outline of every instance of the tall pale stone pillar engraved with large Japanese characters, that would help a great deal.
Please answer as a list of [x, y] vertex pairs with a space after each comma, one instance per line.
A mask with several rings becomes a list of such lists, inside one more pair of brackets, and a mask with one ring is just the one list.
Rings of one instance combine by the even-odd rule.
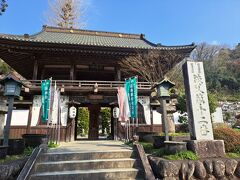
[[191, 138], [213, 140], [203, 63], [187, 61], [183, 65], [183, 75]]

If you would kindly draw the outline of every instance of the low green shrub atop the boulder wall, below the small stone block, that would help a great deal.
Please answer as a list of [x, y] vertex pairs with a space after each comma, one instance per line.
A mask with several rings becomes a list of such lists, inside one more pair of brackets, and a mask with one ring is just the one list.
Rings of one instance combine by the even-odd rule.
[[199, 159], [198, 156], [195, 153], [193, 153], [192, 151], [181, 151], [174, 155], [163, 156], [163, 158], [168, 159], [168, 160], [185, 160], [185, 159], [197, 160], [197, 159]]

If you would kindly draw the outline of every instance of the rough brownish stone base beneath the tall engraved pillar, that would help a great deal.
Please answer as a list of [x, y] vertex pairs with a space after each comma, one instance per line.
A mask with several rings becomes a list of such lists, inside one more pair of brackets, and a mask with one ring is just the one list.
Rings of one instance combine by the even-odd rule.
[[187, 149], [200, 158], [225, 157], [223, 140], [190, 140], [187, 141]]

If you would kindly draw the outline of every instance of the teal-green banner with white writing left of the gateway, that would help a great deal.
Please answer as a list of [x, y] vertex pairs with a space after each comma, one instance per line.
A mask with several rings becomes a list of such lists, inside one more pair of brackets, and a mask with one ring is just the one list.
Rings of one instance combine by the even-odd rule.
[[42, 89], [42, 121], [46, 122], [48, 120], [50, 108], [51, 80], [42, 81], [41, 89]]

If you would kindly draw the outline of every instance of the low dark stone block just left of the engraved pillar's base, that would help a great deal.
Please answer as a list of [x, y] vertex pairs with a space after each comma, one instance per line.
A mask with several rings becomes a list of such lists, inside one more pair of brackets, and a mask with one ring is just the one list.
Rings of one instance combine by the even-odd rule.
[[176, 154], [180, 151], [186, 151], [186, 142], [164, 141], [165, 151], [168, 154]]

